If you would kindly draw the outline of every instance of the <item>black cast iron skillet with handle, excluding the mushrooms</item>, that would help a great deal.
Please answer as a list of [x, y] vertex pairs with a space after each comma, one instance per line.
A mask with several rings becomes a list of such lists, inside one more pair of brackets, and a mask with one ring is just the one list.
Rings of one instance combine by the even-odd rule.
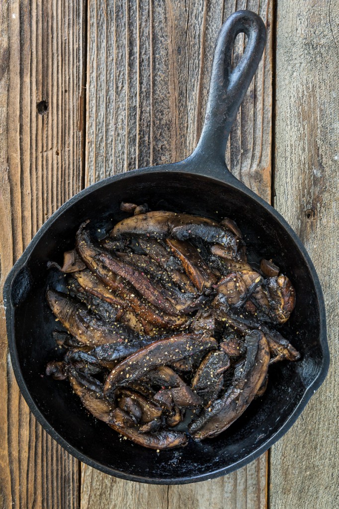
[[[241, 32], [248, 42], [232, 70], [232, 48]], [[45, 222], [7, 278], [9, 349], [26, 402], [66, 450], [108, 474], [144, 483], [182, 484], [232, 472], [287, 432], [326, 377], [325, 306], [314, 266], [285, 219], [233, 177], [224, 162], [227, 138], [265, 38], [259, 16], [249, 11], [233, 14], [218, 38], [205, 124], [193, 154], [178, 163], [116, 175], [79, 192]], [[121, 440], [84, 410], [68, 383], [43, 376], [46, 363], [61, 355], [51, 338], [59, 324], [45, 300], [46, 281], [53, 277], [47, 262], [61, 261], [62, 253], [74, 247], [75, 232], [84, 219], [124, 217], [121, 201], [236, 219], [250, 263], [272, 258], [296, 289], [296, 308], [282, 331], [301, 352], [301, 360], [274, 364], [263, 397], [220, 436], [159, 454]]]

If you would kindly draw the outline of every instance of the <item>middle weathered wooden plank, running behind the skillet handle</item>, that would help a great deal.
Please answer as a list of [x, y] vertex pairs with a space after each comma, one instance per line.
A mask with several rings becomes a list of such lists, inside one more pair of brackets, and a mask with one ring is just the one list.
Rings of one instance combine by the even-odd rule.
[[[270, 200], [271, 0], [90, 2], [86, 185], [134, 167], [180, 160], [193, 150], [217, 33], [222, 21], [242, 8], [267, 22], [268, 43], [232, 130], [227, 160], [237, 177]], [[242, 49], [240, 40], [235, 59]], [[264, 455], [222, 479], [168, 488], [109, 478], [83, 465], [81, 507], [95, 509], [100, 496], [103, 506], [115, 509], [139, 507], [140, 500], [159, 508], [180, 503], [259, 509], [266, 507], [266, 470]]]

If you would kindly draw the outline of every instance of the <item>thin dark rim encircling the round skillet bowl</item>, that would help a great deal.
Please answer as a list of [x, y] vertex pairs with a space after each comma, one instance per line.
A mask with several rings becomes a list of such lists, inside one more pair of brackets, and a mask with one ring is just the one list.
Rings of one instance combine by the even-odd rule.
[[[193, 482], [201, 482], [203, 480], [212, 479], [219, 477], [221, 475], [225, 475], [227, 473], [231, 473], [234, 470], [237, 470], [238, 468], [241, 468], [244, 465], [247, 465], [249, 462], [257, 459], [261, 454], [263, 454], [269, 447], [271, 447], [277, 440], [279, 440], [294, 424], [296, 419], [299, 417], [303, 409], [305, 408], [306, 404], [308, 403], [309, 399], [312, 397], [312, 395], [316, 392], [316, 390], [321, 386], [323, 381], [326, 378], [328, 368], [329, 368], [329, 349], [328, 349], [328, 343], [327, 343], [327, 331], [326, 331], [326, 312], [325, 312], [325, 303], [323, 298], [323, 293], [320, 285], [320, 281], [317, 275], [317, 272], [315, 270], [315, 267], [313, 265], [312, 260], [310, 260], [310, 257], [303, 246], [301, 240], [297, 236], [297, 234], [293, 231], [293, 229], [290, 227], [290, 225], [287, 223], [287, 221], [281, 216], [276, 209], [274, 209], [271, 205], [266, 203], [263, 199], [261, 199], [260, 196], [255, 194], [253, 191], [248, 189], [244, 184], [242, 184], [240, 181], [238, 181], [235, 177], [233, 177], [228, 171], [225, 171], [225, 167], [223, 166], [217, 169], [214, 169], [213, 172], [211, 172], [211, 168], [206, 167], [204, 171], [198, 170], [196, 171], [196, 168], [193, 170], [191, 164], [189, 163], [189, 159], [186, 159], [184, 161], [180, 161], [179, 163], [172, 163], [172, 164], [166, 164], [166, 165], [160, 165], [160, 166], [152, 166], [148, 168], [142, 168], [142, 169], [136, 169], [128, 173], [115, 175], [112, 177], [108, 177], [104, 180], [101, 180], [95, 184], [92, 184], [91, 186], [87, 187], [86, 189], [81, 190], [79, 193], [75, 194], [73, 197], [71, 197], [70, 200], [68, 200], [65, 204], [63, 204], [58, 210], [56, 210], [48, 219], [47, 221], [42, 225], [40, 230], [36, 233], [30, 244], [26, 247], [24, 252], [22, 253], [21, 257], [18, 259], [18, 261], [15, 263], [14, 267], [8, 274], [5, 285], [4, 285], [4, 304], [5, 304], [5, 312], [6, 312], [6, 324], [7, 324], [7, 333], [8, 333], [8, 344], [9, 344], [9, 352], [11, 357], [11, 362], [13, 365], [13, 371], [16, 378], [16, 381], [19, 385], [20, 391], [29, 406], [30, 410], [32, 411], [33, 415], [37, 418], [38, 422], [41, 424], [41, 426], [45, 429], [45, 431], [54, 439], [56, 442], [58, 442], [62, 447], [64, 447], [70, 454], [72, 454], [75, 458], [77, 458], [79, 461], [86, 463], [89, 466], [92, 466], [94, 468], [97, 468], [98, 470], [101, 470], [104, 473], [107, 473], [109, 475], [114, 475], [116, 477], [126, 479], [126, 480], [132, 480], [134, 482], [140, 482], [140, 483], [146, 483], [146, 484], [160, 484], [160, 485], [175, 485], [175, 484], [188, 484]], [[11, 289], [12, 284], [15, 280], [16, 275], [18, 272], [21, 271], [21, 269], [25, 266], [27, 261], [29, 260], [31, 253], [33, 249], [35, 248], [37, 242], [40, 240], [40, 238], [44, 235], [44, 233], [47, 231], [48, 228], [52, 226], [54, 221], [60, 217], [64, 212], [66, 212], [72, 205], [77, 202], [79, 199], [83, 199], [88, 194], [96, 191], [97, 189], [101, 187], [105, 187], [107, 185], [110, 185], [111, 183], [117, 182], [122, 179], [128, 179], [130, 177], [134, 177], [135, 175], [146, 175], [146, 174], [153, 174], [153, 173], [185, 173], [190, 174], [195, 177], [203, 177], [206, 179], [209, 179], [211, 181], [214, 181], [215, 184], [227, 184], [231, 188], [237, 189], [238, 191], [243, 192], [246, 194], [247, 197], [254, 200], [257, 205], [264, 207], [269, 213], [271, 213], [275, 219], [277, 219], [280, 224], [285, 228], [287, 233], [292, 238], [293, 242], [295, 243], [300, 256], [303, 258], [307, 269], [312, 277], [313, 284], [315, 287], [317, 302], [319, 306], [319, 321], [320, 321], [320, 333], [319, 333], [319, 344], [322, 350], [322, 363], [319, 366], [319, 371], [317, 373], [316, 378], [313, 380], [310, 385], [305, 387], [305, 391], [302, 394], [302, 397], [300, 398], [299, 403], [296, 405], [296, 407], [293, 409], [292, 413], [287, 417], [286, 421], [281, 425], [279, 430], [276, 431], [267, 441], [265, 441], [260, 447], [253, 450], [251, 453], [247, 454], [244, 458], [241, 460], [232, 463], [229, 466], [218, 468], [215, 470], [212, 470], [208, 473], [202, 473], [202, 474], [195, 474], [190, 476], [181, 476], [181, 477], [147, 477], [142, 475], [136, 475], [136, 474], [130, 474], [125, 473], [121, 470], [116, 470], [112, 467], [107, 467], [106, 465], [101, 464], [100, 462], [91, 459], [87, 455], [81, 453], [80, 450], [78, 450], [76, 447], [72, 446], [70, 443], [67, 442], [58, 432], [54, 430], [54, 428], [49, 424], [46, 417], [41, 413], [39, 410], [37, 404], [33, 400], [30, 391], [26, 387], [26, 383], [24, 380], [24, 377], [21, 372], [21, 367], [18, 359], [18, 353], [16, 348], [16, 342], [15, 342], [15, 332], [14, 332], [14, 313], [13, 313], [13, 303], [11, 300]], [[212, 173], [212, 175], [211, 175]]]

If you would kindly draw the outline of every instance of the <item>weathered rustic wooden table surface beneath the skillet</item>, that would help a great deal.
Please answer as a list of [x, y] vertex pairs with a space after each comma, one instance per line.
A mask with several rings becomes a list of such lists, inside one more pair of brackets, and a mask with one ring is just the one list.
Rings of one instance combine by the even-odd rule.
[[[226, 158], [289, 221], [316, 265], [328, 378], [284, 438], [247, 467], [187, 486], [126, 482], [80, 464], [29, 412], [2, 303], [1, 509], [339, 507], [337, 0], [2, 0], [0, 282], [46, 218], [84, 186], [192, 151], [218, 30], [242, 8], [260, 13], [268, 40]], [[242, 48], [240, 37], [235, 58]]]

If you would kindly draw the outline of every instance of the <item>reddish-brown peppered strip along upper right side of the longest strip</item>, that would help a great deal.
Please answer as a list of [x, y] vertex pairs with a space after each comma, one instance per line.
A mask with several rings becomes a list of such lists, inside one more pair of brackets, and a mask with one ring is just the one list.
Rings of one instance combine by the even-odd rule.
[[163, 312], [174, 316], [178, 314], [177, 309], [172, 303], [165, 299], [158, 288], [141, 272], [133, 269], [127, 263], [113, 258], [108, 253], [98, 254], [96, 260], [99, 260], [109, 270], [129, 281], [143, 297]]

